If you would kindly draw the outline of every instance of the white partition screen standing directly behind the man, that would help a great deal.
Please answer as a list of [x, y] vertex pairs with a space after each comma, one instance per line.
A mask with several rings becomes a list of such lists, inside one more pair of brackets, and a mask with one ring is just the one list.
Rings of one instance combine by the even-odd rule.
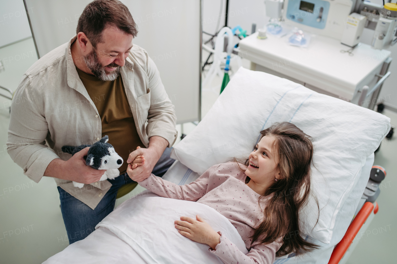
[[[68, 42], [91, 0], [26, 0], [40, 57]], [[200, 1], [122, 0], [138, 25], [133, 42], [156, 63], [177, 122], [198, 120]], [[32, 11], [30, 11], [32, 10]]]

